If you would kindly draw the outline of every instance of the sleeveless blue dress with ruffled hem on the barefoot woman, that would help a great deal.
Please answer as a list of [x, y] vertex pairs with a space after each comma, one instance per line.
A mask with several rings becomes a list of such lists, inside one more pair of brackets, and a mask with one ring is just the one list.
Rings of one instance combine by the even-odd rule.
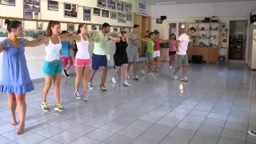
[[1, 93], [26, 94], [34, 90], [30, 73], [26, 66], [25, 42], [18, 38], [20, 46], [11, 46], [6, 40], [0, 42], [2, 51], [2, 84]]

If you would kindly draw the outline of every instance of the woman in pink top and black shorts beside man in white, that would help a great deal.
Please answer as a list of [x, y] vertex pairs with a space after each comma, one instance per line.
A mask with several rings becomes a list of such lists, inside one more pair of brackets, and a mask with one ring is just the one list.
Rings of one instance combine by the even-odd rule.
[[174, 66], [176, 65], [176, 35], [170, 34], [169, 40], [169, 56], [170, 56], [170, 70], [173, 70]]

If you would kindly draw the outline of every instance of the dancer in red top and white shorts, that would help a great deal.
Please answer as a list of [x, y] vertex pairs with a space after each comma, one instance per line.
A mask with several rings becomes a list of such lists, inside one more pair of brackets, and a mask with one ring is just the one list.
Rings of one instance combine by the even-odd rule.
[[153, 52], [153, 58], [155, 62], [155, 67], [154, 67], [154, 72], [158, 72], [159, 70], [159, 58], [160, 58], [160, 42], [168, 42], [169, 40], [163, 40], [162, 38], [159, 38], [160, 33], [159, 31], [156, 31], [155, 33], [155, 38], [154, 38], [154, 52]]

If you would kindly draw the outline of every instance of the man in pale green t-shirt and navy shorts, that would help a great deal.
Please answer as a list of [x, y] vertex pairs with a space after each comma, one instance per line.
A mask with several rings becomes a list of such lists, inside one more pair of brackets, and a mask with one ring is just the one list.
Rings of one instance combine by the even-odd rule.
[[94, 36], [94, 52], [92, 55], [92, 72], [90, 73], [90, 82], [89, 88], [94, 89], [93, 87], [93, 79], [94, 74], [102, 67], [102, 80], [99, 86], [100, 90], [106, 91], [106, 73], [107, 73], [107, 58], [106, 58], [106, 42], [109, 40], [118, 41], [119, 38], [114, 38], [107, 33], [110, 32], [110, 24], [103, 23], [102, 31]]

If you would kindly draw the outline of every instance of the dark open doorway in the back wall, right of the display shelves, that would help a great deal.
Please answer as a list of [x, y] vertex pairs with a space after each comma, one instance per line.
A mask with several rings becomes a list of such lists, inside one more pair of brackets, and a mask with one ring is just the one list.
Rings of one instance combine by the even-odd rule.
[[246, 60], [247, 21], [230, 21], [229, 60]]

